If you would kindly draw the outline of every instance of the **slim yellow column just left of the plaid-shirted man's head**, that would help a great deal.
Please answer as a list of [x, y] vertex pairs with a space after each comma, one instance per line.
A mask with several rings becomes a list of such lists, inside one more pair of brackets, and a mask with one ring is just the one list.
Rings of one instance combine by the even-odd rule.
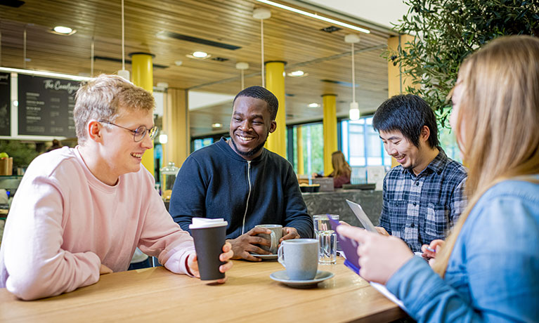
[[337, 95], [323, 94], [324, 176], [333, 171], [331, 154], [337, 150]]

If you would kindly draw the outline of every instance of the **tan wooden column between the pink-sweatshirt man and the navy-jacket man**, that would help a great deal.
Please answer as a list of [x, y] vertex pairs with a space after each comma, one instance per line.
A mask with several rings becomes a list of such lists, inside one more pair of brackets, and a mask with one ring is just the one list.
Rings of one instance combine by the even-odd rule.
[[174, 162], [177, 167], [189, 156], [190, 129], [189, 110], [187, 105], [187, 91], [182, 88], [169, 88], [167, 91], [167, 105], [163, 113], [163, 130], [169, 137], [164, 144], [163, 151], [168, 162]]

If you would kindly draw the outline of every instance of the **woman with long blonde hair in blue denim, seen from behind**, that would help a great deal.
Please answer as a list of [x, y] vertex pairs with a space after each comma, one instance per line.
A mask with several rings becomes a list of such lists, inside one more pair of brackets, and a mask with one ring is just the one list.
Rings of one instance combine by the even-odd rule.
[[398, 238], [337, 232], [361, 243], [361, 276], [419, 322], [538, 322], [539, 39], [481, 48], [462, 64], [452, 100], [469, 206], [447, 241], [424, 252], [431, 266]]

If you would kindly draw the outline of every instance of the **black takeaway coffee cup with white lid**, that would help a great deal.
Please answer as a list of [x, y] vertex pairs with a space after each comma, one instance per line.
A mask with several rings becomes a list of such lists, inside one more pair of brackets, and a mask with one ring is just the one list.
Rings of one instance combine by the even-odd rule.
[[223, 253], [226, 225], [228, 223], [222, 218], [193, 218], [193, 224], [189, 225], [195, 240], [200, 280], [225, 277], [224, 272], [219, 271], [219, 266], [224, 264], [219, 261], [219, 255]]

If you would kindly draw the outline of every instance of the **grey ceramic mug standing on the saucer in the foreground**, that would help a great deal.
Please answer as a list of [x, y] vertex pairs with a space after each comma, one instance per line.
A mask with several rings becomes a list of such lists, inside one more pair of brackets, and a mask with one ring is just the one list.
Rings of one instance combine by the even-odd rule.
[[285, 266], [290, 280], [311, 280], [318, 270], [318, 240], [290, 239], [278, 250], [278, 261]]

